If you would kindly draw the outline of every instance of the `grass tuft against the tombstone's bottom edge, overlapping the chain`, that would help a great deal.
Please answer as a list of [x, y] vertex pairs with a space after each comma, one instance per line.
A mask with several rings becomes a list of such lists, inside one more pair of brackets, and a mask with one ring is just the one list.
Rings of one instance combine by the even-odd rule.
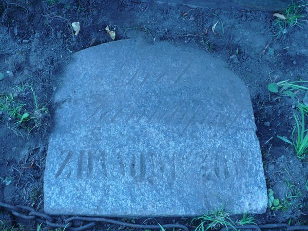
[[[230, 219], [230, 214], [226, 213], [223, 208], [219, 209], [218, 211], [212, 211], [209, 214], [204, 214], [201, 217], [197, 217], [192, 219], [194, 221], [200, 221], [200, 224], [197, 226], [195, 231], [203, 231], [212, 228], [220, 228], [221, 226], [225, 226], [228, 230], [229, 227], [232, 227], [234, 230], [235, 223]], [[205, 227], [206, 226], [206, 227]]]

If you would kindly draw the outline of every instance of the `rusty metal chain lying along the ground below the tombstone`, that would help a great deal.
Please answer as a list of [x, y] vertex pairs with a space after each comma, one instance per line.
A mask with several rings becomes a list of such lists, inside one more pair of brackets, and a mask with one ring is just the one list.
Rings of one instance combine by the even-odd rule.
[[[73, 231], [81, 231], [89, 229], [93, 226], [95, 226], [95, 222], [105, 222], [115, 225], [121, 225], [125, 227], [130, 228], [141, 228], [141, 229], [161, 229], [163, 227], [164, 229], [167, 228], [178, 228], [185, 231], [194, 230], [193, 227], [187, 227], [185, 225], [181, 224], [164, 224], [164, 225], [143, 225], [143, 224], [132, 224], [128, 222], [122, 222], [118, 220], [108, 219], [108, 218], [102, 218], [102, 217], [83, 217], [83, 216], [74, 216], [66, 219], [65, 223], [56, 223], [54, 222], [54, 219], [44, 213], [40, 213], [36, 211], [34, 208], [31, 208], [29, 206], [24, 205], [10, 205], [7, 203], [0, 202], [0, 208], [4, 208], [7, 211], [10, 211], [14, 216], [23, 218], [26, 220], [34, 220], [40, 223], [45, 223], [48, 226], [52, 228], [65, 228], [66, 230], [73, 230]], [[85, 221], [89, 222], [87, 224], [74, 226], [74, 221]], [[281, 230], [291, 231], [291, 230], [308, 230], [308, 225], [296, 225], [296, 226], [290, 226], [288, 224], [263, 224], [263, 225], [237, 225], [235, 226], [237, 229], [252, 229], [261, 231], [261, 229], [274, 229], [274, 228], [281, 228]], [[220, 231], [226, 231], [226, 230], [233, 230], [233, 227], [224, 227], [220, 229]]]

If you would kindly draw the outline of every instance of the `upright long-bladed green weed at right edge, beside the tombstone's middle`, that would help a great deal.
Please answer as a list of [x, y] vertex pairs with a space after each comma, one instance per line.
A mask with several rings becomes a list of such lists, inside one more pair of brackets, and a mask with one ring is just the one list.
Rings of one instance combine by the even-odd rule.
[[301, 120], [297, 114], [294, 114], [296, 126], [292, 131], [292, 141], [280, 136], [278, 136], [278, 138], [288, 144], [291, 144], [295, 148], [297, 157], [299, 159], [304, 159], [306, 153], [308, 153], [308, 129], [305, 129], [305, 115], [303, 108], [300, 108], [300, 113]]

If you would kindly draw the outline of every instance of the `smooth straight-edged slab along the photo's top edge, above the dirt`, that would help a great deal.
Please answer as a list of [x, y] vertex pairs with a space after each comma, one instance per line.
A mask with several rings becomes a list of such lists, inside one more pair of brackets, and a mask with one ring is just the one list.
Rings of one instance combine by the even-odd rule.
[[[145, 0], [143, 2], [152, 2]], [[268, 12], [282, 12], [292, 0], [159, 0], [159, 3], [184, 4], [191, 7], [205, 7], [212, 9], [260, 10]]]

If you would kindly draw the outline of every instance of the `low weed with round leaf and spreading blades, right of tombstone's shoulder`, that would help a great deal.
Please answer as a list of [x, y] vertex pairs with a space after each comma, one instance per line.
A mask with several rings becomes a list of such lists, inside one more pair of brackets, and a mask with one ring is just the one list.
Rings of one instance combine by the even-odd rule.
[[308, 81], [293, 81], [288, 82], [288, 80], [280, 81], [278, 83], [271, 83], [268, 84], [267, 88], [269, 91], [274, 93], [279, 93], [284, 96], [289, 96], [292, 99], [295, 98], [295, 95], [299, 93], [300, 91], [307, 91]]

